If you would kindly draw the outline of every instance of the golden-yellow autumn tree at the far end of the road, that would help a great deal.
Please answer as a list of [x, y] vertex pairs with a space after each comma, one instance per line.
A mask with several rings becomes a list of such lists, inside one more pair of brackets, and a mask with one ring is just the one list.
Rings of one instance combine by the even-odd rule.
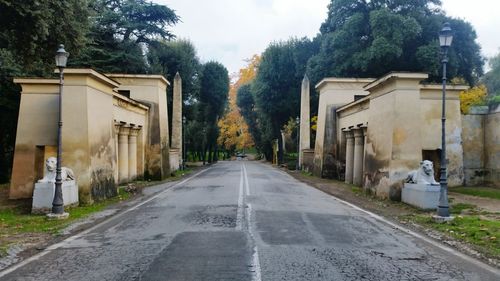
[[236, 95], [241, 85], [254, 79], [259, 61], [260, 57], [254, 55], [247, 60], [247, 66], [240, 69], [239, 73], [231, 79], [235, 82], [232, 82], [229, 88], [229, 108], [226, 115], [219, 120], [220, 133], [217, 139], [218, 144], [229, 151], [248, 149], [254, 146], [254, 141], [248, 131], [248, 125], [236, 104]]

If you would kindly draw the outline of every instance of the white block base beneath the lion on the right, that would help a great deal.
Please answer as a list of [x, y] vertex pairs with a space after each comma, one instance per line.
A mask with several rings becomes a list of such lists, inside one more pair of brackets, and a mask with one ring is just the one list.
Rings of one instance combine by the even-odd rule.
[[401, 201], [424, 210], [435, 210], [441, 187], [429, 184], [405, 183]]

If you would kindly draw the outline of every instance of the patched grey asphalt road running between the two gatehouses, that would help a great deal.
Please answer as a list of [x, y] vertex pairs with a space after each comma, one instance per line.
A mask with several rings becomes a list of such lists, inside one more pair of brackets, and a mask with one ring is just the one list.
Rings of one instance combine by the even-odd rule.
[[500, 280], [258, 162], [220, 162], [1, 280]]

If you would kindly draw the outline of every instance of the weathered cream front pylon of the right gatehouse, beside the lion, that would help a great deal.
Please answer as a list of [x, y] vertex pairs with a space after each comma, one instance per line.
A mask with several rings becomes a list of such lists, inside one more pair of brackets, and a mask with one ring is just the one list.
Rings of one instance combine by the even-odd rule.
[[420, 81], [426, 74], [390, 73], [365, 87], [370, 116], [365, 149], [365, 188], [400, 200], [403, 179], [421, 160]]

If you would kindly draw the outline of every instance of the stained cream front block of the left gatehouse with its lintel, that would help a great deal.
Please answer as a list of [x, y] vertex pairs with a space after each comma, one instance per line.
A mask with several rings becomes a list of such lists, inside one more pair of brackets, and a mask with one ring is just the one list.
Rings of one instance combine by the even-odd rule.
[[[11, 198], [32, 196], [43, 161], [55, 154], [58, 80], [16, 79], [23, 93], [16, 139]], [[118, 83], [90, 69], [66, 69], [62, 94], [62, 166], [74, 171], [81, 202], [108, 198], [116, 189], [115, 121], [147, 126], [148, 108], [114, 92]], [[120, 110], [115, 109], [121, 100]], [[118, 112], [118, 116], [114, 114]], [[144, 138], [145, 136], [142, 136]], [[138, 165], [144, 163], [144, 140]], [[138, 169], [142, 173], [143, 169]], [[43, 176], [43, 175], [42, 175]]]

